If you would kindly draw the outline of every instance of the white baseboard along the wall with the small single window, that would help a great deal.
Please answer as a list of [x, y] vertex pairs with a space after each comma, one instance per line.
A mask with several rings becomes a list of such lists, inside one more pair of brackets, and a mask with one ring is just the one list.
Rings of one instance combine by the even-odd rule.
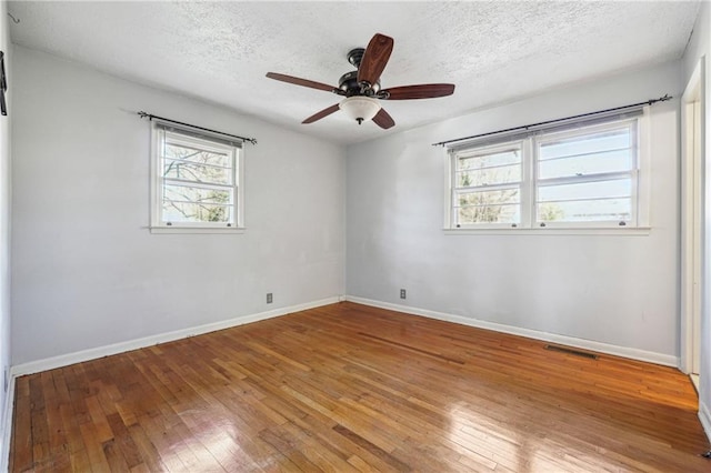
[[241, 315], [234, 319], [192, 326], [183, 330], [177, 330], [173, 332], [159, 333], [157, 335], [146, 336], [143, 339], [129, 340], [127, 342], [120, 342], [111, 345], [98, 346], [96, 349], [82, 350], [79, 352], [68, 353], [59, 356], [21, 363], [12, 366], [10, 373], [12, 376], [23, 376], [26, 374], [39, 373], [40, 371], [68, 366], [74, 363], [81, 363], [83, 361], [96, 360], [102, 356], [109, 356], [117, 353], [123, 353], [146, 346], [152, 346], [158, 343], [172, 342], [174, 340], [186, 339], [188, 336], [201, 335], [203, 333], [229, 329], [237, 325], [243, 325], [246, 323], [258, 322], [260, 320], [272, 319], [293, 312], [306, 311], [308, 309], [319, 308], [321, 305], [334, 304], [339, 302], [339, 296], [333, 296], [322, 299], [320, 301], [274, 309], [272, 311], [259, 312], [250, 315]]

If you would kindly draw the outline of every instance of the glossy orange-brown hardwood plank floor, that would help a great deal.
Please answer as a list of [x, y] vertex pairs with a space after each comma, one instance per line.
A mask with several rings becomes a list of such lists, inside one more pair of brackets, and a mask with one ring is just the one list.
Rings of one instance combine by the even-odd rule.
[[343, 302], [17, 380], [10, 471], [710, 472], [671, 368]]

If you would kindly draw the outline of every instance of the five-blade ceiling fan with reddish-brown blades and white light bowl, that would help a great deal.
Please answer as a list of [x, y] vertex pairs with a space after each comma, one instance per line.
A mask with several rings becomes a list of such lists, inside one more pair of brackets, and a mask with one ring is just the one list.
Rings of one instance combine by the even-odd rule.
[[341, 76], [338, 82], [339, 87], [277, 72], [268, 72], [267, 77], [346, 97], [340, 103], [312, 114], [302, 123], [313, 123], [338, 110], [343, 110], [359, 124], [362, 124], [363, 121], [372, 120], [378, 127], [387, 130], [394, 127], [395, 122], [381, 107], [380, 100], [432, 99], [451, 95], [454, 92], [454, 84], [451, 83], [423, 83], [381, 89], [380, 74], [385, 69], [385, 64], [388, 64], [393, 43], [392, 38], [375, 33], [368, 43], [368, 48], [351, 50], [348, 53], [348, 62], [353, 64], [357, 70]]

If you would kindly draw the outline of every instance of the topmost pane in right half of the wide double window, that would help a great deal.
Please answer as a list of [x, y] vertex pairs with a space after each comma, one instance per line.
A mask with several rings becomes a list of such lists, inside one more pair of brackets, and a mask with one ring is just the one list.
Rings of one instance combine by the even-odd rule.
[[629, 149], [631, 145], [630, 129], [625, 127], [619, 130], [545, 142], [540, 147], [539, 160]]

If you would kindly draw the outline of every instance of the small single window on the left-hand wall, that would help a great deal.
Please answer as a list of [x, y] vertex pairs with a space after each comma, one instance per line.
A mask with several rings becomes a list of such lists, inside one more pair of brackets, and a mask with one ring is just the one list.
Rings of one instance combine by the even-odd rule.
[[241, 143], [153, 122], [151, 229], [242, 227]]

